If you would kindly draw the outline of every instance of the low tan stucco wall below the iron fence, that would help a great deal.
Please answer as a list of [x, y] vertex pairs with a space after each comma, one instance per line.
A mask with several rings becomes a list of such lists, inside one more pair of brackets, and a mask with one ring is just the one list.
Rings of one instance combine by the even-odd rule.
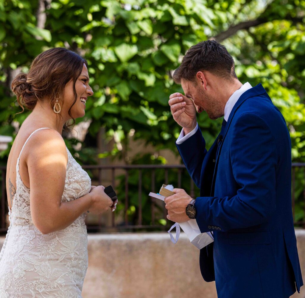
[[[296, 238], [305, 283], [305, 230], [296, 229]], [[83, 298], [217, 298], [184, 233], [176, 244], [164, 232], [89, 234], [88, 254]], [[305, 286], [292, 297], [305, 298]]]

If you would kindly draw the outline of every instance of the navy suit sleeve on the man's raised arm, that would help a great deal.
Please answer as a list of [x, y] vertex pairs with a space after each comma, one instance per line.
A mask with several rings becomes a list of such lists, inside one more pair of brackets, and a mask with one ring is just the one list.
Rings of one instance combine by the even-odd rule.
[[185, 140], [182, 144], [176, 144], [179, 154], [192, 177], [194, 183], [200, 188], [200, 175], [203, 159], [206, 155], [206, 142], [200, 128], [196, 133]]

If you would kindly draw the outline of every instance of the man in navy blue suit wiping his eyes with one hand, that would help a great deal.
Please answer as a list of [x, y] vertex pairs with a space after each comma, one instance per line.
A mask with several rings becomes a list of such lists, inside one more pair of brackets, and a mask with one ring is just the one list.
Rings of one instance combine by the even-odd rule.
[[[165, 199], [167, 218], [195, 218], [214, 242], [200, 250], [204, 280], [219, 298], [288, 298], [303, 285], [291, 210], [291, 142], [285, 119], [264, 87], [237, 79], [217, 41], [202, 41], [174, 73], [185, 95], [170, 95], [176, 142], [196, 200], [181, 189]], [[209, 151], [196, 121], [224, 116]]]

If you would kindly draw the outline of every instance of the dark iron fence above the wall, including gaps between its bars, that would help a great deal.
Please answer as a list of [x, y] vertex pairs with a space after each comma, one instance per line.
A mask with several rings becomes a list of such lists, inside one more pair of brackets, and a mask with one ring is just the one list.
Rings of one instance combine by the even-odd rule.
[[[111, 184], [117, 191], [116, 212], [96, 216], [88, 214], [88, 232], [166, 230], [171, 225], [166, 218], [164, 203], [148, 196], [157, 193], [163, 183], [183, 188], [191, 197], [199, 196], [184, 165], [84, 165], [92, 185]], [[8, 226], [8, 204], [5, 187], [6, 168], [0, 167], [1, 223], [0, 233]], [[305, 163], [292, 164], [292, 214], [296, 226], [305, 228]]]

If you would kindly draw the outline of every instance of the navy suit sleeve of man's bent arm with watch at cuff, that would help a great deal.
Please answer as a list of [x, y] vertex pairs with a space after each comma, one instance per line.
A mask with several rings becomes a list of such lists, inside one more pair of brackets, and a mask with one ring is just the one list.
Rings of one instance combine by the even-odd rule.
[[196, 199], [201, 232], [211, 231], [212, 225], [221, 231], [258, 225], [275, 211], [277, 151], [269, 126], [259, 116], [245, 113], [231, 129], [230, 157], [237, 194]]

